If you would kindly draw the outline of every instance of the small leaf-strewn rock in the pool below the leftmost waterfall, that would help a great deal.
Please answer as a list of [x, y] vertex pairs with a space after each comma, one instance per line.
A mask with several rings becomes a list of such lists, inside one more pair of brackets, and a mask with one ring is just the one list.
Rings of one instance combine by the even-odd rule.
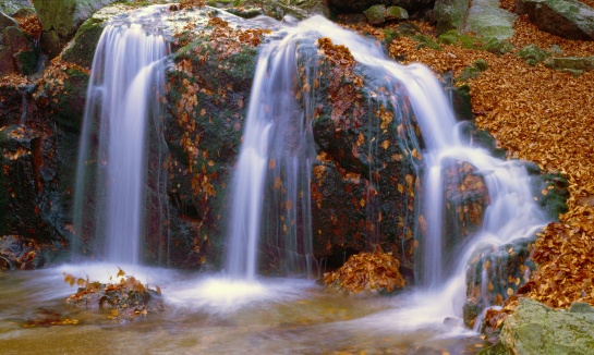
[[111, 309], [109, 318], [119, 322], [145, 317], [163, 308], [159, 286], [151, 289], [125, 274], [122, 269], [119, 269], [117, 278], [119, 282], [100, 283], [64, 273], [66, 283], [78, 285], [76, 293], [68, 297], [66, 303], [89, 309]]

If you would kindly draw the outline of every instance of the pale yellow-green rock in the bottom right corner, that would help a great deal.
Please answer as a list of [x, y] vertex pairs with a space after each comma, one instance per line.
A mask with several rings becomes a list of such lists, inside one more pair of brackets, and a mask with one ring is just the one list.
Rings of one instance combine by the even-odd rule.
[[556, 310], [530, 298], [520, 298], [504, 322], [500, 341], [510, 354], [594, 353], [594, 308], [573, 304]]

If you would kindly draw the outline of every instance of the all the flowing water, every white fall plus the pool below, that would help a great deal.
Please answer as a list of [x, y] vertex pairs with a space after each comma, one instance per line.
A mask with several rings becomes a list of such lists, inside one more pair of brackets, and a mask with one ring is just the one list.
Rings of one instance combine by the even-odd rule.
[[[150, 25], [154, 19], [154, 14], [143, 17], [138, 12], [106, 28], [88, 89], [75, 209], [89, 213], [90, 233], [105, 240], [104, 256], [109, 264], [0, 273], [2, 352], [476, 353], [482, 346], [476, 333], [444, 320], [461, 317], [464, 268], [476, 246], [498, 246], [530, 236], [546, 223], [532, 198], [530, 178], [522, 163], [493, 158], [459, 138], [444, 89], [428, 69], [399, 65], [374, 41], [319, 16], [283, 28], [280, 39], [262, 49], [232, 187], [223, 273], [196, 276], [137, 265], [146, 174], [144, 130], [150, 112], [159, 110], [149, 102], [158, 101], [151, 100], [151, 88], [158, 87], [156, 68], [168, 53], [163, 37]], [[367, 69], [365, 75], [381, 78], [387, 88], [398, 84], [399, 90], [388, 90], [380, 100], [393, 108], [398, 120], [402, 114], [396, 98], [404, 93], [421, 126], [424, 145], [414, 132], [404, 134], [402, 145], [409, 151], [424, 147], [426, 163], [417, 173], [426, 193], [416, 212], [428, 229], [420, 284], [397, 297], [348, 298], [327, 294], [303, 278], [257, 274], [262, 235], [267, 235], [267, 243], [274, 241], [279, 255], [289, 260], [283, 269], [288, 274], [311, 274], [316, 269], [307, 195], [315, 158], [313, 110], [310, 96], [296, 95], [295, 79], [298, 47], [311, 46], [319, 37], [348, 47]], [[315, 90], [310, 95], [316, 95]], [[97, 152], [90, 154], [90, 148]], [[445, 256], [441, 228], [446, 216], [444, 175], [452, 159], [475, 167], [489, 195], [482, 229], [457, 249], [454, 259]], [[89, 166], [95, 168], [86, 172]], [[281, 195], [267, 187], [277, 181], [283, 186]], [[272, 213], [281, 204], [283, 212]], [[263, 224], [270, 216], [276, 221]], [[83, 215], [78, 233], [85, 233], [84, 221]], [[289, 237], [281, 240], [279, 235], [284, 234]], [[158, 284], [167, 309], [145, 320], [117, 325], [108, 313], [64, 305], [64, 297], [73, 290], [63, 283], [62, 272], [101, 280], [117, 272], [113, 262], [135, 265], [125, 271]], [[39, 317], [39, 307], [76, 318], [80, 325], [22, 328], [27, 319]]]

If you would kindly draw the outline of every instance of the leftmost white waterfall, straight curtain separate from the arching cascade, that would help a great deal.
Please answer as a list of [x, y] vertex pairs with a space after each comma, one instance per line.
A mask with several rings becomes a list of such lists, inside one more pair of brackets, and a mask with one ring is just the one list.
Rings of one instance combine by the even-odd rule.
[[159, 120], [168, 42], [157, 26], [166, 7], [114, 19], [95, 52], [83, 118], [74, 199], [75, 232], [108, 261], [141, 261], [147, 144]]

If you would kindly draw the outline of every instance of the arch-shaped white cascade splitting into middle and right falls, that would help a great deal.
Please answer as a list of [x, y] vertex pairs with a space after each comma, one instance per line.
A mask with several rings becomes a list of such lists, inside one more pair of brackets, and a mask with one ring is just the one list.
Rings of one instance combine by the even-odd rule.
[[[350, 49], [355, 60], [365, 68], [366, 82], [376, 84], [381, 82], [387, 88], [385, 94], [374, 94], [379, 95], [377, 101], [383, 100], [385, 107], [393, 109], [395, 119], [400, 120], [396, 125], [403, 123], [405, 117], [400, 111], [402, 107], [397, 98], [405, 95], [410, 102], [423, 142], [420, 142], [413, 128], [408, 128], [399, 133], [404, 139], [399, 144], [409, 155], [412, 155], [414, 149], [422, 151], [424, 162], [416, 167], [424, 186], [422, 187], [424, 197], [416, 205], [415, 221], [422, 217], [426, 222], [426, 228], [421, 233], [424, 238], [421, 261], [423, 266], [417, 281], [425, 290], [429, 290], [434, 297], [435, 292], [439, 293], [437, 296], [440, 299], [439, 309], [444, 316], [460, 315], [462, 308], [460, 302], [465, 287], [464, 267], [472, 250], [485, 243], [498, 246], [514, 238], [533, 235], [547, 222], [544, 212], [533, 200], [531, 178], [523, 164], [519, 161], [493, 158], [487, 151], [472, 147], [459, 137], [459, 127], [444, 88], [427, 68], [421, 64], [400, 65], [386, 58], [379, 46], [372, 40], [340, 28], [320, 16], [314, 16], [286, 30], [288, 34], [283, 40], [274, 41], [264, 49], [256, 71], [250, 117], [233, 189], [235, 195], [231, 212], [233, 223], [230, 229], [231, 246], [227, 255], [228, 271], [233, 276], [242, 274], [248, 279], [255, 276], [258, 237], [264, 233], [259, 225], [267, 213], [263, 211], [266, 206], [263, 196], [266, 174], [270, 169], [270, 162], [274, 161], [271, 152], [290, 150], [272, 147], [272, 142], [287, 140], [287, 132], [277, 132], [276, 126], [281, 122], [279, 118], [282, 120], [291, 118], [296, 120], [293, 122], [299, 122], [299, 125], [303, 123], [307, 125], [311, 120], [310, 117], [304, 119], [301, 112], [293, 114], [300, 105], [294, 100], [293, 58], [296, 56], [294, 44], [313, 42], [319, 37], [328, 37], [335, 45], [344, 45]], [[279, 54], [281, 51], [288, 51], [288, 57]], [[367, 84], [364, 90], [369, 94], [373, 87]], [[290, 123], [291, 121], [283, 122], [288, 122], [283, 123], [286, 126], [294, 125]], [[310, 135], [293, 136], [311, 139]], [[307, 142], [301, 144], [306, 146]], [[310, 149], [301, 150], [302, 161], [313, 157]], [[489, 196], [483, 225], [466, 238], [463, 245], [454, 248], [456, 256], [447, 255], [445, 250], [444, 230], [444, 218], [447, 217], [444, 176], [445, 170], [451, 167], [452, 161], [472, 164], [476, 169], [476, 174], [483, 176]], [[306, 168], [302, 169], [305, 169], [302, 173], [306, 176], [308, 173]], [[307, 206], [304, 206], [304, 209], [307, 209]], [[307, 228], [311, 227], [303, 227]], [[420, 225], [415, 229], [421, 230]], [[242, 250], [247, 253], [242, 256]]]

